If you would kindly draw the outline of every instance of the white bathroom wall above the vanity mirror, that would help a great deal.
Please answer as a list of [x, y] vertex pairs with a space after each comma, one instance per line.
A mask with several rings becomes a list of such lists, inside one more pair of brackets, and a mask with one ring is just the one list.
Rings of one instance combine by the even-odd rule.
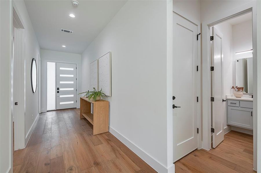
[[234, 59], [253, 57], [252, 52], [235, 54], [253, 49], [252, 20], [233, 25], [233, 57]]

